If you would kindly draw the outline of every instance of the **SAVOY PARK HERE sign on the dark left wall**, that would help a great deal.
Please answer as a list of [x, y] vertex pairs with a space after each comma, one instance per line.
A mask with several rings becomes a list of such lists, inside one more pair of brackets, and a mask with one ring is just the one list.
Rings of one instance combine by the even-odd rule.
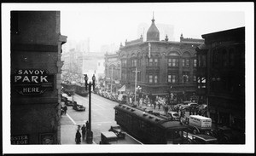
[[20, 95], [40, 95], [53, 90], [54, 74], [44, 69], [19, 69], [12, 74], [12, 88]]

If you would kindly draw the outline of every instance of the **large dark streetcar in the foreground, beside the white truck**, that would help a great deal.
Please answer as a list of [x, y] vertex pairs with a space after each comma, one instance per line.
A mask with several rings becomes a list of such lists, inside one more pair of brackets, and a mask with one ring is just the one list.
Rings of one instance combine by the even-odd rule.
[[144, 144], [189, 143], [188, 138], [184, 136], [188, 126], [179, 121], [160, 118], [136, 106], [125, 104], [119, 104], [114, 110], [117, 124]]

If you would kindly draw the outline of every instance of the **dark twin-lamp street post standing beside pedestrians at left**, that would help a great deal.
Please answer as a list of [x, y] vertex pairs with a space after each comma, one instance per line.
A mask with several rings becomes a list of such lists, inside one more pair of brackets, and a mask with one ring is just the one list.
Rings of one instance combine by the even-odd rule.
[[88, 76], [87, 74], [84, 74], [84, 81], [85, 81], [85, 90], [88, 89], [89, 87], [89, 129], [87, 128], [87, 137], [86, 137], [86, 142], [87, 143], [92, 143], [92, 138], [93, 138], [93, 133], [91, 131], [91, 86], [93, 87], [92, 89], [95, 89], [95, 75], [93, 74], [92, 76], [92, 84], [91, 83], [87, 83], [88, 81]]

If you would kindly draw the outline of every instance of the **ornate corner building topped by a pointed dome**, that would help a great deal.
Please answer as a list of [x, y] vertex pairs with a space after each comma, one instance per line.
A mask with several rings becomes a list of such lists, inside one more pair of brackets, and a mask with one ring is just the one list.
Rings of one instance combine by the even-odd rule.
[[137, 86], [145, 94], [172, 93], [175, 102], [190, 100], [196, 91], [195, 48], [201, 43], [202, 39], [183, 38], [183, 34], [180, 42], [169, 41], [167, 35], [160, 41], [153, 19], [145, 42], [142, 36], [119, 48], [121, 84], [132, 92], [137, 77]]

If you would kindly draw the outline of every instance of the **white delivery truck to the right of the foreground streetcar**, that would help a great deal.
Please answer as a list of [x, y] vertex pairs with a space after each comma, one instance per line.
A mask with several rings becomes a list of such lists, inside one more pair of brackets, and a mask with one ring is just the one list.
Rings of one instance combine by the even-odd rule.
[[191, 130], [193, 134], [210, 134], [212, 130], [212, 118], [203, 117], [201, 115], [190, 115], [189, 130]]

